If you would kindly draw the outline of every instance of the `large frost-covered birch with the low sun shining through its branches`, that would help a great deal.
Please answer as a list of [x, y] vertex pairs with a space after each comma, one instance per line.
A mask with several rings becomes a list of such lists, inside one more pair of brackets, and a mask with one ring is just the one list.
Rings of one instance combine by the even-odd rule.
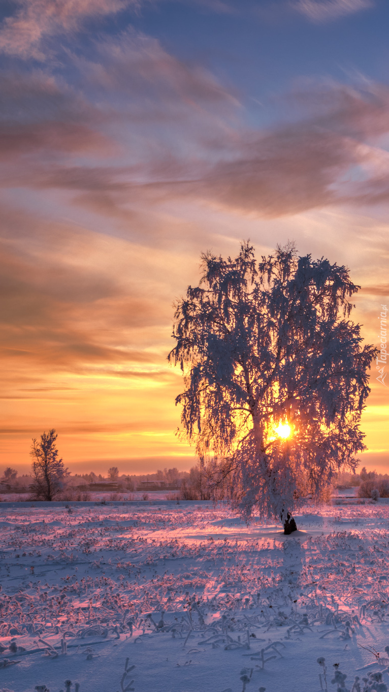
[[170, 362], [186, 390], [184, 432], [244, 516], [282, 518], [323, 496], [365, 449], [359, 429], [375, 350], [349, 320], [359, 286], [345, 266], [293, 244], [256, 262], [201, 255], [199, 286], [176, 304]]

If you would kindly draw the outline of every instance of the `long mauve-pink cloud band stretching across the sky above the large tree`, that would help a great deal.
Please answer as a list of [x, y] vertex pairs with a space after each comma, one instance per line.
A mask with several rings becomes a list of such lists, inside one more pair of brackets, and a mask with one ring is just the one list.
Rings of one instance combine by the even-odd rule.
[[[196, 127], [190, 119], [178, 121], [174, 150], [170, 139], [150, 138], [141, 156], [136, 149], [132, 152], [133, 165], [73, 165], [67, 160], [46, 161], [44, 166], [37, 162], [32, 168], [9, 165], [3, 185], [68, 190], [79, 205], [124, 224], [132, 221], [142, 200], [149, 205], [190, 198], [280, 217], [389, 199], [389, 154], [380, 144], [389, 134], [387, 86], [309, 85], [285, 103], [300, 117], [272, 129], [226, 129], [211, 118], [203, 134], [196, 120]], [[90, 122], [93, 125], [93, 116]], [[72, 136], [76, 148], [77, 132]]]

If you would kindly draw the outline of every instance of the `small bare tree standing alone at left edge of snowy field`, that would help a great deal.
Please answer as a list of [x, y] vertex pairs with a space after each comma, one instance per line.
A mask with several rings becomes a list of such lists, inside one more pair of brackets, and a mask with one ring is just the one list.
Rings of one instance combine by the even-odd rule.
[[34, 480], [31, 489], [37, 500], [53, 500], [62, 490], [64, 478], [69, 475], [62, 458], [58, 458], [56, 439], [54, 429], [47, 434], [44, 432], [39, 441], [33, 439], [30, 456]]

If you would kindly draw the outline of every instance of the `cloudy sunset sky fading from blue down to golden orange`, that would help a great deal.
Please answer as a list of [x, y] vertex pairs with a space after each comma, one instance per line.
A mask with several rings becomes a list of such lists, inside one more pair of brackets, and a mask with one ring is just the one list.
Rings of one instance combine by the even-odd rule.
[[[379, 346], [388, 26], [387, 0], [1, 3], [0, 471], [49, 428], [73, 473], [195, 463], [167, 355], [208, 249], [347, 265]], [[389, 473], [377, 376], [361, 462]]]

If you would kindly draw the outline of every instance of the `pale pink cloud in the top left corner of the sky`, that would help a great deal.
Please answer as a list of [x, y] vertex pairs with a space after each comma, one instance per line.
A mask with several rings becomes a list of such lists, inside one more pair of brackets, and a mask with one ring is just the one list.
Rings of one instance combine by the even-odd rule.
[[46, 60], [46, 37], [79, 29], [85, 19], [116, 14], [137, 0], [14, 0], [15, 14], [0, 26], [0, 52]]

